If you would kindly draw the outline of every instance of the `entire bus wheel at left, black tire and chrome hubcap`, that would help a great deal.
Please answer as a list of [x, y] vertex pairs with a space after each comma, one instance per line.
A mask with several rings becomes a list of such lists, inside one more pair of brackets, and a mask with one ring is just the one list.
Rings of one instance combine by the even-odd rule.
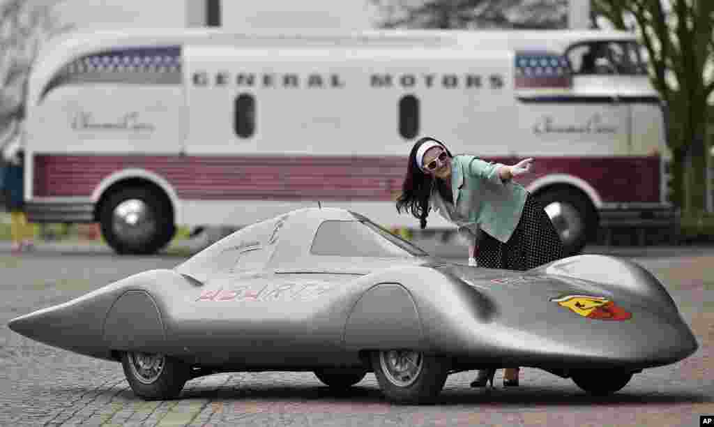
[[101, 204], [101, 233], [116, 253], [156, 253], [176, 233], [170, 203], [156, 189], [119, 189]]

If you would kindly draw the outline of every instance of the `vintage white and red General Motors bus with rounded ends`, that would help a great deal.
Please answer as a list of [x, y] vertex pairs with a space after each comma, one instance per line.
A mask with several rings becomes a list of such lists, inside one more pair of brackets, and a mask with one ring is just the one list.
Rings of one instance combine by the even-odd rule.
[[578, 253], [604, 218], [670, 215], [645, 67], [615, 31], [70, 34], [29, 80], [29, 218], [99, 222], [118, 253], [318, 201], [416, 228], [394, 200], [412, 144], [434, 136], [535, 158], [519, 181]]

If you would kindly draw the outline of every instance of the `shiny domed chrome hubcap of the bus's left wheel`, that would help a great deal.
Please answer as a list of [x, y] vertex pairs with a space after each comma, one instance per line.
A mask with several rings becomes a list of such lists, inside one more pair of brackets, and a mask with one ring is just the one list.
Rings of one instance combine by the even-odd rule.
[[127, 199], [112, 212], [112, 229], [122, 241], [143, 242], [156, 233], [156, 217], [143, 200]]

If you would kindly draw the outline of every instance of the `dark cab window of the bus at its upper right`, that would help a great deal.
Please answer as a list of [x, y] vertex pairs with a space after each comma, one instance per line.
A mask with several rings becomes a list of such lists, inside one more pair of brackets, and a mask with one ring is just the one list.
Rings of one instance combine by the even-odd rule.
[[635, 41], [590, 41], [568, 49], [573, 74], [647, 75], [647, 64]]

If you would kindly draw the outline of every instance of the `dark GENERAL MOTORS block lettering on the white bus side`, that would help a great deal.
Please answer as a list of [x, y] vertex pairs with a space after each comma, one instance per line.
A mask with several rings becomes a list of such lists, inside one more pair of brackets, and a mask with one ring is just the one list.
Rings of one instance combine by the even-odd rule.
[[[346, 86], [339, 74], [256, 74], [207, 71], [193, 73], [193, 86], [240, 86], [240, 87], [284, 87], [284, 88], [343, 88]], [[480, 89], [488, 85], [491, 89], [504, 86], [501, 74], [481, 76], [478, 74], [371, 74], [368, 83], [373, 88], [401, 87], [411, 89], [416, 86], [443, 89]]]

